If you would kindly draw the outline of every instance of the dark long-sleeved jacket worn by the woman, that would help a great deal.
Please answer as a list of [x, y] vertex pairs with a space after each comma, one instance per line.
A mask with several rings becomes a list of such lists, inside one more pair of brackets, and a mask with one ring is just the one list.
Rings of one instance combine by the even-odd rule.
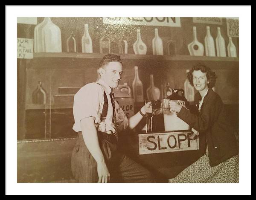
[[[196, 93], [194, 110], [189, 111], [182, 107], [177, 116], [197, 130], [200, 135], [206, 136], [209, 164], [213, 167], [238, 154], [238, 145], [220, 96], [209, 89], [198, 112], [200, 100], [201, 95]], [[200, 142], [203, 141], [200, 139]]]

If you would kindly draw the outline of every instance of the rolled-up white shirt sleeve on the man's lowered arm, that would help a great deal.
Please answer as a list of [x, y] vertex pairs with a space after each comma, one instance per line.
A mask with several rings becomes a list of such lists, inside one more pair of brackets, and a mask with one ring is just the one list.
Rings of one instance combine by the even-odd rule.
[[95, 117], [95, 124], [100, 123], [100, 99], [102, 99], [103, 93], [101, 86], [90, 83], [75, 94], [73, 104], [75, 124], [73, 130], [81, 131], [80, 121], [90, 116]]

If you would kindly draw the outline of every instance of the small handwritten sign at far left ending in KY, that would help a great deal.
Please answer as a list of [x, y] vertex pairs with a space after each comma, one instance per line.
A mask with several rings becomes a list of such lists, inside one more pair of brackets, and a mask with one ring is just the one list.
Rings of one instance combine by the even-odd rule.
[[17, 58], [33, 58], [33, 39], [17, 38]]

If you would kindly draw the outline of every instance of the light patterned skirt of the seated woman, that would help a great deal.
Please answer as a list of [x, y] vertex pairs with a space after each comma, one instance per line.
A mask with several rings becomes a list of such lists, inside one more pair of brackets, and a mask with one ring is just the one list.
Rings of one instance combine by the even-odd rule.
[[239, 183], [239, 155], [211, 167], [204, 154], [169, 183]]

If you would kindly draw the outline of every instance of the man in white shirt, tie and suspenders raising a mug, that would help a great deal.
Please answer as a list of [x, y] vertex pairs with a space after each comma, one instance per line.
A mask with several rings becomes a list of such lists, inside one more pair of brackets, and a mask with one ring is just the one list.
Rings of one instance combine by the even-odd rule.
[[112, 92], [123, 74], [120, 57], [105, 55], [98, 73], [98, 81], [86, 84], [74, 97], [73, 129], [79, 134], [72, 152], [72, 173], [80, 183], [151, 183], [148, 170], [117, 151], [118, 132], [135, 128], [152, 112], [151, 103], [127, 119]]

